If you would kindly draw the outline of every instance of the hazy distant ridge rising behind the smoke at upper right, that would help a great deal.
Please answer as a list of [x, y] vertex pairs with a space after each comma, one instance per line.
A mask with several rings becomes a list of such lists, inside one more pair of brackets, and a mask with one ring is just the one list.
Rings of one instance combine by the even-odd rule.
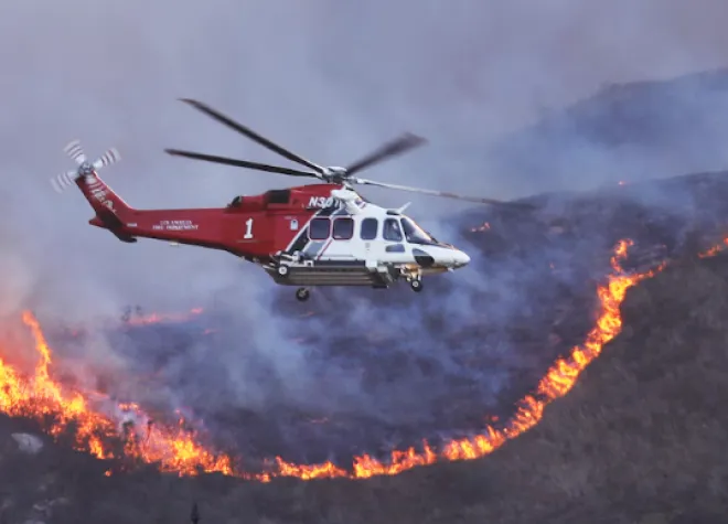
[[728, 69], [609, 85], [503, 137], [484, 157], [520, 194], [724, 169], [726, 108]]

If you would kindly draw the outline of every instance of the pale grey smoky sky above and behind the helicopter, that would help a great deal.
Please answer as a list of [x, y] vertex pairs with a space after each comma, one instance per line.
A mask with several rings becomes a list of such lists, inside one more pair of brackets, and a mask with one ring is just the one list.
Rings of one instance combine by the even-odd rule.
[[[52, 311], [86, 314], [140, 297], [195, 301], [229, 279], [270, 288], [225, 255], [127, 246], [88, 226], [87, 203], [49, 184], [71, 167], [61, 152], [71, 139], [89, 156], [120, 150], [122, 163], [101, 177], [138, 207], [217, 206], [292, 182], [167, 157], [162, 148], [183, 147], [279, 161], [179, 97], [329, 164], [411, 130], [430, 143], [367, 175], [521, 196], [534, 188], [510, 184], [474, 152], [606, 82], [724, 65], [726, 11], [720, 1], [687, 9], [676, 0], [6, 2], [0, 167], [3, 266], [13, 278], [2, 302], [13, 309], [40, 293]], [[460, 206], [367, 194], [390, 205], [411, 200], [416, 217]]]

